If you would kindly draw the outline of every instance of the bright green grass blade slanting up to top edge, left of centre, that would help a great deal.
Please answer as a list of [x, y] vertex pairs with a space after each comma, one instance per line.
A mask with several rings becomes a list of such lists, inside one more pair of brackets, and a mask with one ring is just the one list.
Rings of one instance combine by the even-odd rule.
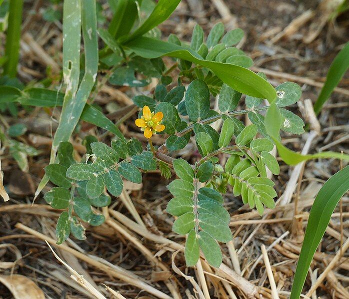
[[158, 0], [149, 17], [128, 38], [126, 38], [126, 40], [134, 40], [150, 31], [158, 24], [161, 24], [171, 15], [179, 2], [180, 0]]

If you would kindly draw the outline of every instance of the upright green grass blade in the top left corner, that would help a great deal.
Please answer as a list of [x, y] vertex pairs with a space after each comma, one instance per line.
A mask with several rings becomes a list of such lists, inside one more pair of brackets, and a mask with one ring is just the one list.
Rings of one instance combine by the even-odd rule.
[[3, 74], [15, 77], [19, 60], [20, 25], [22, 22], [23, 0], [10, 0], [8, 28], [6, 32], [5, 57]]

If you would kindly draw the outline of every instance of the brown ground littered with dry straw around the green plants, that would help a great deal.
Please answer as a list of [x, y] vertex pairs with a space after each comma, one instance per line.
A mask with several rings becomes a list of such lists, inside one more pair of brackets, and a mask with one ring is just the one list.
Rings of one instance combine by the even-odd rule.
[[[25, 13], [32, 9], [32, 2], [26, 3], [28, 9]], [[220, 20], [223, 20], [227, 27], [238, 26], [246, 34], [246, 39], [240, 46], [255, 61], [254, 70], [264, 69], [273, 85], [286, 80], [295, 81], [302, 87], [302, 100], [310, 98], [314, 102], [320, 90], [318, 85], [324, 81], [331, 60], [348, 40], [348, 14], [340, 16], [335, 22], [326, 23], [319, 34], [306, 43], [310, 34], [314, 33], [314, 28], [318, 28], [318, 21], [325, 17], [323, 16], [325, 12], [316, 10], [317, 1], [315, 0], [225, 0], [226, 6], [222, 6], [221, 2], [213, 0], [182, 1], [174, 14], [160, 26], [163, 35], [166, 36], [172, 32], [180, 38], [189, 39], [195, 22], [199, 22], [206, 32]], [[230, 9], [231, 14], [224, 15], [222, 11], [226, 7]], [[312, 9], [313, 16], [309, 18], [308, 22], [296, 27], [294, 33], [287, 35], [287, 31], [283, 30], [306, 9]], [[59, 65], [61, 61], [61, 24], [59, 22], [47, 23], [38, 13], [30, 24], [27, 24], [27, 32]], [[30, 47], [25, 46], [25, 42], [22, 44], [20, 64], [19, 77], [23, 83], [42, 78], [45, 65], [31, 51]], [[342, 150], [348, 153], [348, 86], [349, 78], [346, 77], [339, 85], [341, 89], [333, 93], [319, 115], [322, 135], [312, 136], [308, 133], [302, 136], [287, 135], [283, 136], [283, 143], [293, 150], [302, 150], [304, 143], [312, 138], [308, 148], [309, 152], [326, 149], [337, 152]], [[121, 89], [121, 91], [132, 96], [130, 90]], [[106, 113], [110, 112], [108, 109], [111, 109], [111, 103], [122, 107], [129, 105], [127, 100], [113, 95], [110, 90], [106, 92], [105, 89], [104, 92], [97, 95], [96, 100], [105, 104]], [[242, 104], [241, 107], [243, 107]], [[292, 109], [301, 116], [296, 105]], [[34, 110], [29, 116], [24, 110], [19, 111], [19, 116], [21, 115], [26, 117], [25, 121], [29, 124], [29, 130], [23, 137], [24, 141], [39, 148], [42, 155], [39, 156], [40, 158], [30, 159], [29, 172], [23, 173], [18, 170], [16, 163], [7, 152], [1, 153], [4, 184], [9, 190], [11, 200], [10, 204], [0, 203], [0, 244], [13, 244], [11, 247], [13, 252], [0, 247], [0, 261], [15, 260], [14, 253], [19, 255], [17, 258], [20, 256], [22, 258], [9, 269], [2, 269], [0, 264], [0, 274], [8, 275], [12, 271], [14, 274], [30, 277], [43, 290], [47, 298], [87, 298], [86, 293], [78, 291], [77, 284], [69, 279], [67, 270], [54, 259], [47, 245], [40, 240], [40, 236], [34, 236], [29, 231], [23, 232], [21, 229], [23, 227], [15, 226], [16, 223], [21, 223], [43, 234], [41, 239], [48, 240], [48, 238], [54, 238], [55, 221], [59, 215], [41, 198], [36, 200], [34, 206], [31, 206], [33, 192], [43, 175], [43, 167], [48, 163], [50, 131], [51, 128], [54, 129], [55, 123], [48, 114], [41, 110]], [[3, 121], [10, 124], [24, 119], [20, 117], [16, 120], [7, 115], [3, 117]], [[121, 126], [126, 136], [140, 135], [136, 133], [132, 121], [133, 119], [129, 119]], [[84, 124], [82, 124], [82, 129], [85, 130], [84, 133], [89, 132], [101, 136], [96, 129], [91, 129]], [[80, 137], [81, 135], [74, 140], [76, 144], [81, 140]], [[157, 139], [157, 143], [161, 143], [160, 138]], [[196, 155], [193, 147], [190, 146], [180, 154], [191, 161], [195, 159]], [[231, 269], [240, 269], [241, 276], [252, 286], [258, 288], [262, 298], [271, 298], [271, 295], [265, 264], [259, 258], [260, 246], [264, 244], [267, 248], [270, 247], [268, 257], [275, 283], [280, 291], [280, 298], [287, 298], [311, 203], [321, 184], [340, 167], [339, 161], [336, 160], [308, 162], [301, 172], [300, 185], [296, 188], [295, 184], [290, 185], [289, 183], [293, 168], [281, 163], [280, 175], [273, 179], [276, 182], [279, 196], [288, 186], [292, 191], [289, 199], [298, 197], [296, 218], [293, 218], [293, 199], [290, 204], [284, 203], [274, 211], [267, 211], [261, 219], [257, 213], [250, 212], [247, 207], [242, 206], [239, 198], [234, 198], [230, 192], [227, 193], [225, 203], [232, 216], [233, 246], [237, 256], [229, 255], [228, 248], [222, 245], [224, 263]], [[297, 181], [296, 179], [295, 182]], [[194, 294], [192, 285], [177, 272], [175, 273], [171, 266], [172, 254], [178, 249], [176, 246], [183, 244], [184, 240], [171, 233], [173, 219], [164, 212], [170, 197], [165, 188], [168, 182], [158, 172], [144, 174], [143, 182], [141, 189], [139, 186], [129, 185], [124, 198], [127, 199], [129, 196], [133, 201], [147, 228], [145, 232], [139, 225], [130, 222], [134, 221], [132, 216], [119, 199], [114, 199], [110, 210], [116, 212], [110, 212], [111, 219], [106, 224], [96, 228], [87, 227], [87, 240], [84, 242], [74, 239], [67, 242], [67, 246], [74, 248], [75, 256], [79, 252], [83, 254], [84, 261], [67, 254], [65, 250], [55, 249], [55, 252], [87, 280], [94, 282], [100, 290], [103, 289], [101, 284], [105, 284], [120, 291], [120, 294], [126, 298], [154, 298], [149, 293], [130, 286], [124, 280], [115, 278], [115, 273], [121, 277], [131, 274], [133, 275], [131, 280], [145, 282], [160, 292], [170, 295], [169, 290], [174, 289], [173, 293], [179, 293], [183, 298], [191, 298], [190, 296]], [[312, 264], [313, 270], [318, 269], [316, 270], [318, 271], [317, 276], [340, 248], [342, 237], [349, 236], [347, 230], [349, 198], [347, 196], [342, 199], [344, 214], [338, 212], [339, 210], [336, 210], [333, 214], [329, 229], [320, 245], [319, 250], [323, 254], [315, 256]], [[122, 218], [119, 213], [124, 214], [127, 218]], [[343, 215], [343, 226], [341, 227], [340, 216]], [[169, 241], [164, 238], [175, 243], [168, 244]], [[319, 286], [317, 296], [348, 298], [346, 295], [349, 286], [347, 279], [349, 262], [345, 257], [347, 253], [344, 253], [341, 263], [332, 269], [330, 273], [332, 276], [328, 276]], [[161, 263], [158, 264], [158, 267], [154, 267], [154, 261], [158, 261], [157, 258]], [[238, 266], [233, 267], [232, 263], [236, 261]], [[120, 267], [111, 268], [114, 271], [114, 277], [112, 273], [106, 275], [103, 271], [105, 263]], [[180, 271], [196, 279], [194, 270], [185, 269], [183, 266], [182, 253], [178, 253], [174, 264]], [[120, 269], [127, 271], [128, 274], [120, 274]], [[205, 266], [203, 270], [211, 272]], [[316, 271], [313, 272], [315, 278]], [[244, 298], [243, 290], [246, 286], [243, 283], [241, 285], [231, 284], [231, 288], [224, 286], [224, 289], [218, 283], [219, 279], [215, 279], [212, 275], [212, 273], [207, 275], [211, 298], [232, 298], [231, 293], [227, 290], [232, 290], [237, 298]], [[171, 280], [167, 281], [166, 285], [164, 281], [169, 277]], [[311, 282], [307, 279], [305, 290], [308, 290], [310, 286]], [[178, 291], [175, 290], [176, 288]], [[105, 296], [112, 298], [110, 293], [105, 293]], [[0, 285], [0, 298], [12, 298], [2, 285]]]

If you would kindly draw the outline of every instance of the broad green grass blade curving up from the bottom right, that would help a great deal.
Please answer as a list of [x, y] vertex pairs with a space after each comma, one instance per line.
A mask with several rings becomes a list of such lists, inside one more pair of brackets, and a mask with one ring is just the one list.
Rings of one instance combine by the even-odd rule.
[[290, 299], [299, 299], [305, 278], [330, 217], [340, 198], [349, 190], [349, 166], [331, 176], [318, 192], [311, 207], [300, 250]]

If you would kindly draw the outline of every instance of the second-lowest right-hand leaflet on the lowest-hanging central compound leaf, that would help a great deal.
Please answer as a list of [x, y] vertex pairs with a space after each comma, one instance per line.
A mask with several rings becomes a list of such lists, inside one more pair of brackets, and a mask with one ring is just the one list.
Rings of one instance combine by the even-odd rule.
[[226, 222], [208, 213], [200, 213], [198, 219], [201, 229], [215, 240], [224, 243], [231, 241], [232, 234]]

